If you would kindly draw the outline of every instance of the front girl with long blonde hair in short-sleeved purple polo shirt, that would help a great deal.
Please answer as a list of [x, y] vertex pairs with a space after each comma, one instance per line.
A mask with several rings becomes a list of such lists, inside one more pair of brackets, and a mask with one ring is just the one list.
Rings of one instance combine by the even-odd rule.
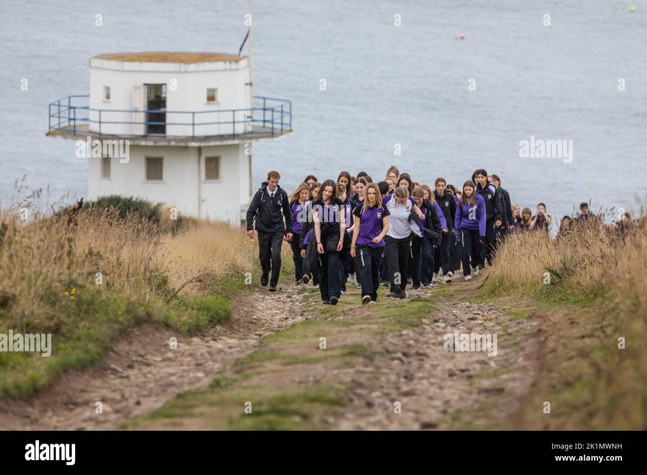
[[389, 230], [389, 210], [382, 206], [380, 189], [375, 183], [366, 187], [366, 199], [353, 211], [355, 220], [351, 256], [357, 261], [362, 284], [362, 304], [377, 302], [384, 236]]

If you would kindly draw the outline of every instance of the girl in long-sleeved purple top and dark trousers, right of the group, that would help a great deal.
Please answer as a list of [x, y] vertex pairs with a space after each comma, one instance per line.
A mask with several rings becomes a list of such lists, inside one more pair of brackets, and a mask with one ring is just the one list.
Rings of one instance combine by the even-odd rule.
[[[463, 184], [463, 198], [456, 207], [454, 218], [454, 233], [456, 240], [461, 243], [463, 254], [463, 279], [472, 279], [470, 264], [474, 275], [479, 275], [479, 260], [481, 256], [480, 242], [485, 237], [487, 211], [485, 200], [476, 192], [474, 182], [468, 180]], [[472, 262], [470, 263], [470, 257]]]

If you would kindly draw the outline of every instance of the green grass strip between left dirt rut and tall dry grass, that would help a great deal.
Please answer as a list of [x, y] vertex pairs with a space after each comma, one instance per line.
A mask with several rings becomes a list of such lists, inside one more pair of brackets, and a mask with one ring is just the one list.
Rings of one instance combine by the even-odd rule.
[[[148, 302], [137, 302], [115, 290], [71, 284], [74, 295], [52, 295], [47, 306], [50, 312], [65, 318], [50, 319], [52, 326], [38, 329], [38, 333], [52, 334], [49, 357], [33, 352], [0, 352], [0, 397], [29, 396], [66, 370], [100, 363], [120, 335], [142, 322], [167, 324], [185, 335], [220, 324], [230, 315], [228, 299], [243, 289], [241, 282], [219, 282], [214, 295], [177, 296], [170, 302], [163, 293], [151, 295]], [[8, 330], [0, 328], [0, 333], [8, 334]], [[27, 326], [19, 333], [36, 331]]]

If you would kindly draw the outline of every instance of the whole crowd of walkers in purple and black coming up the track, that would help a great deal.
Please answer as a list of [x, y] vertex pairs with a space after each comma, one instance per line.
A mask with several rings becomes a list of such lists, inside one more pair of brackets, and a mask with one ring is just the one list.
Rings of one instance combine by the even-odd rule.
[[[534, 216], [501, 187], [498, 175], [484, 169], [456, 190], [444, 178], [432, 189], [392, 166], [384, 180], [373, 182], [347, 171], [336, 180], [305, 177], [288, 194], [270, 171], [247, 211], [259, 242], [261, 285], [276, 291], [281, 241], [292, 248], [297, 285], [313, 280], [324, 304], [336, 304], [346, 283], [362, 289], [362, 303], [377, 302], [380, 285], [389, 297], [406, 298], [406, 288], [450, 283], [463, 268], [463, 279], [491, 265], [499, 240], [518, 231], [549, 229], [551, 218], [540, 204]], [[271, 277], [270, 277], [271, 271]]]

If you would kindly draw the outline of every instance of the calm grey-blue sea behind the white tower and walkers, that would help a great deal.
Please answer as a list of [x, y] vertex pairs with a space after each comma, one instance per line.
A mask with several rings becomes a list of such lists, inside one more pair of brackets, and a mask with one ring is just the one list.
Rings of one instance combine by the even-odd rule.
[[[2, 0], [1, 10], [5, 206], [23, 175], [31, 189], [49, 185], [50, 202], [87, 192], [74, 142], [45, 133], [48, 103], [87, 94], [91, 56], [236, 53], [247, 30], [242, 0]], [[378, 181], [396, 164], [432, 186], [437, 176], [460, 186], [483, 167], [512, 202], [534, 212], [543, 201], [554, 216], [589, 199], [644, 202], [647, 2], [280, 0], [254, 1], [253, 14], [254, 94], [292, 100], [295, 130], [254, 145], [255, 189], [269, 169], [291, 191], [307, 174], [363, 170]], [[573, 140], [573, 162], [520, 158], [531, 135]]]

